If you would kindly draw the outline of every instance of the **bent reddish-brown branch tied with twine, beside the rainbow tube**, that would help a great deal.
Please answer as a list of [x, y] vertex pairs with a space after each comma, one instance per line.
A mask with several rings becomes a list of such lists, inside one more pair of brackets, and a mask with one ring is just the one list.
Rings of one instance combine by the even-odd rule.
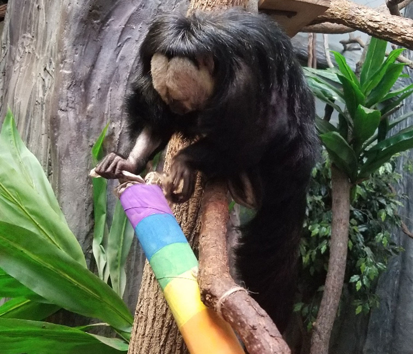
[[238, 288], [228, 268], [225, 236], [229, 213], [226, 195], [224, 183], [208, 183], [202, 196], [198, 276], [202, 298], [211, 308], [220, 306], [221, 315], [240, 335], [248, 353], [288, 354], [290, 349], [277, 327], [246, 291], [225, 295]]

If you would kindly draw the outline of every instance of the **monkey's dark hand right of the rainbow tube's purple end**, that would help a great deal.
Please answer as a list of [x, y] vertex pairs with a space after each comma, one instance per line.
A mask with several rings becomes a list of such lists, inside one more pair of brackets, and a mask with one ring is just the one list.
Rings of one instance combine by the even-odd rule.
[[[169, 171], [170, 183], [166, 185], [166, 197], [169, 197], [174, 203], [186, 202], [195, 189], [196, 171], [192, 169], [187, 162], [184, 154], [178, 154], [172, 162]], [[182, 190], [177, 192], [181, 181]]]

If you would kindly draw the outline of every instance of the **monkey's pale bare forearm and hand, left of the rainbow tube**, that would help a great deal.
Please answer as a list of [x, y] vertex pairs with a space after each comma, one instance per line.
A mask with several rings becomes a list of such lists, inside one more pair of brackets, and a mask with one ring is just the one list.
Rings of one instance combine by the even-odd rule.
[[104, 178], [120, 178], [122, 171], [138, 174], [146, 166], [152, 153], [161, 145], [162, 139], [154, 134], [150, 128], [143, 128], [136, 139], [135, 146], [127, 159], [116, 152], [105, 156], [96, 166], [96, 173]]

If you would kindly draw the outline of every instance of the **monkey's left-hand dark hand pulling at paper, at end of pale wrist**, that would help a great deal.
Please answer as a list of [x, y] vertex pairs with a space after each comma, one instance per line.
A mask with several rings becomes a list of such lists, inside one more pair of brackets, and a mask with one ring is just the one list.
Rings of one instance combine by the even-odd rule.
[[97, 164], [95, 172], [104, 178], [116, 179], [123, 177], [122, 171], [138, 174], [144, 168], [145, 161], [143, 159], [125, 159], [116, 152], [111, 152]]

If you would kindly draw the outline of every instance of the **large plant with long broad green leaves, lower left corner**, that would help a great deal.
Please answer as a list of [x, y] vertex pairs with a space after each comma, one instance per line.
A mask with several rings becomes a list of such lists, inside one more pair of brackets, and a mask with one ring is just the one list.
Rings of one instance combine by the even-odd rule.
[[57, 346], [62, 353], [126, 352], [123, 339], [37, 322], [64, 308], [99, 318], [127, 339], [133, 318], [122, 299], [86, 268], [10, 110], [0, 132], [0, 162], [0, 297], [12, 298], [0, 306], [1, 352], [55, 353]]

